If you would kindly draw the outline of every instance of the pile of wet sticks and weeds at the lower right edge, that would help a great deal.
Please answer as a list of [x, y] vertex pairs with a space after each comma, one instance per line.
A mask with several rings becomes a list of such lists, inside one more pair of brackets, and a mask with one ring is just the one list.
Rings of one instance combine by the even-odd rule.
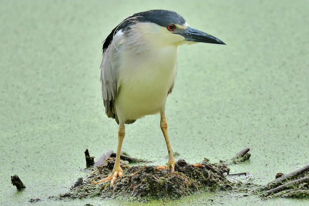
[[281, 175], [256, 191], [264, 198], [309, 198], [309, 165], [289, 174]]

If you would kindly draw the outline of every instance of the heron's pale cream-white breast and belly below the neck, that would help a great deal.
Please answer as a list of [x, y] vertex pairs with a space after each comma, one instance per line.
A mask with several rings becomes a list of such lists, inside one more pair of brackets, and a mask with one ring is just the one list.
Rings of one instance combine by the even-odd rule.
[[176, 77], [177, 56], [174, 45], [124, 53], [114, 102], [120, 122], [164, 111]]

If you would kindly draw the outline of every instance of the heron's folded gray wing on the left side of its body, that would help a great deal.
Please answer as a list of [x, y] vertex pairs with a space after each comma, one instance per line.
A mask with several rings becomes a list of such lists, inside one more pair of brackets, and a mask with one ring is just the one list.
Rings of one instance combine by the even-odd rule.
[[[118, 93], [118, 73], [121, 62], [121, 44], [123, 40], [122, 31], [118, 31], [110, 44], [103, 51], [101, 62], [101, 77], [102, 82], [102, 97], [104, 101], [105, 113], [108, 117], [114, 118], [117, 121], [117, 116], [114, 111], [114, 100]], [[119, 123], [118, 123], [119, 124]]]

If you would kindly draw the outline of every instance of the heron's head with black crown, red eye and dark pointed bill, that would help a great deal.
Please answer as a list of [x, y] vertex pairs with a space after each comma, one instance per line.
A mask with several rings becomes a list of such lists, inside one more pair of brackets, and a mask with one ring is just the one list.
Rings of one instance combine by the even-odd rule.
[[218, 38], [194, 29], [174, 11], [150, 10], [126, 18], [120, 25], [126, 36], [156, 46], [204, 42], [225, 44]]

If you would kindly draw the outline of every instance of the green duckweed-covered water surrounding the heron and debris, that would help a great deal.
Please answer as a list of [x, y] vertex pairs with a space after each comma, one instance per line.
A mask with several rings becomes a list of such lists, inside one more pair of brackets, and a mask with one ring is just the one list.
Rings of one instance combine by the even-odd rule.
[[[174, 10], [227, 44], [179, 48], [166, 109], [177, 158], [218, 162], [249, 147], [250, 163], [231, 173], [250, 172], [259, 185], [309, 164], [309, 1], [0, 1], [0, 205], [145, 205], [49, 196], [89, 174], [86, 148], [95, 157], [116, 150], [117, 124], [101, 100], [101, 42], [123, 18], [150, 9]], [[123, 150], [165, 164], [159, 120], [128, 125]], [[14, 174], [23, 191], [11, 185]], [[147, 205], [158, 204], [309, 202], [225, 191]]]

